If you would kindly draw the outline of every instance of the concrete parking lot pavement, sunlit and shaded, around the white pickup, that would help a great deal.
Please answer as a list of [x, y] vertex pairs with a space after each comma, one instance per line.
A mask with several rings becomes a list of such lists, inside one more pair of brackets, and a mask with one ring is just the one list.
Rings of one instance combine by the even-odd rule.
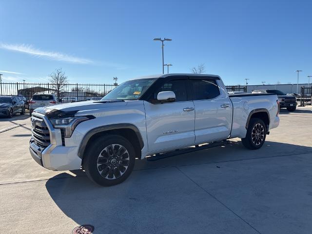
[[[282, 110], [256, 151], [240, 139], [158, 161], [137, 160], [113, 187], [82, 171], [52, 172], [30, 156], [29, 115], [0, 118], [4, 233], [311, 234], [312, 108]], [[22, 125], [24, 124], [24, 125]], [[21, 125], [21, 126], [20, 126]]]

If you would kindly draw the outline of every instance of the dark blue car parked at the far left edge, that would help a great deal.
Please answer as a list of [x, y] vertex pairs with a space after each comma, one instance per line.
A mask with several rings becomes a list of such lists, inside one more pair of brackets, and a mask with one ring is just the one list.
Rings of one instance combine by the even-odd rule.
[[15, 114], [25, 113], [24, 101], [20, 97], [1, 96], [0, 97], [0, 116], [13, 117]]

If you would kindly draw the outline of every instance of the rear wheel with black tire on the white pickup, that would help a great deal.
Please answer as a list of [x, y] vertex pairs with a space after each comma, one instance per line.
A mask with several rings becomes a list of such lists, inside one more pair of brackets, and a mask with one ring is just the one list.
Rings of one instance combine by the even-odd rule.
[[246, 137], [241, 140], [247, 149], [257, 150], [264, 144], [266, 135], [267, 129], [262, 119], [252, 118], [249, 121]]

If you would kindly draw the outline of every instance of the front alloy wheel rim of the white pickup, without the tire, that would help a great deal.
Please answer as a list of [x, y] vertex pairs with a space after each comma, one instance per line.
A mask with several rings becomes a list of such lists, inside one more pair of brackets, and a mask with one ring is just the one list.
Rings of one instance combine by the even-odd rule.
[[129, 160], [125, 147], [119, 144], [109, 145], [98, 156], [98, 173], [105, 179], [117, 179], [127, 171]]

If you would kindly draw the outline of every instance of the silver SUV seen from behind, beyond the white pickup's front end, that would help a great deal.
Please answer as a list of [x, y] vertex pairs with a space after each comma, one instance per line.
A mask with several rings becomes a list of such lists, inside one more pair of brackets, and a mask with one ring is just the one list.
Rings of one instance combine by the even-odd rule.
[[59, 104], [58, 97], [55, 94], [34, 94], [33, 98], [29, 101], [29, 114], [43, 106], [51, 106]]

